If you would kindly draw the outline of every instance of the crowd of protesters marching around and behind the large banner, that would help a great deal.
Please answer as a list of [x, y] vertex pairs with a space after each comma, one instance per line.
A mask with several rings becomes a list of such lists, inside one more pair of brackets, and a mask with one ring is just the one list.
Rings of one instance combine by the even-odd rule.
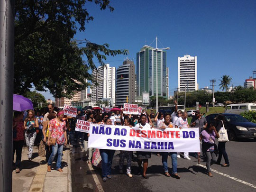
[[[200, 130], [200, 140], [202, 141], [202, 152], [206, 157], [207, 173], [212, 177], [210, 165], [213, 163], [219, 164], [222, 155], [225, 159], [225, 164], [222, 166], [229, 166], [228, 155], [225, 150], [226, 142], [219, 142], [219, 146], [215, 144], [215, 138], [219, 137], [218, 131], [225, 124], [225, 119], [221, 114], [216, 119], [215, 124], [208, 124], [206, 119], [196, 111], [195, 117], [192, 118], [191, 124], [188, 123], [187, 113], [181, 110], [177, 110], [177, 104], [175, 102], [175, 110], [170, 113], [157, 113], [155, 115], [152, 110], [148, 114], [145, 110], [141, 115], [129, 115], [124, 114], [123, 111], [117, 110], [114, 112], [101, 112], [101, 110], [77, 110], [76, 117], [67, 117], [64, 115], [64, 111], [55, 111], [52, 104], [48, 105], [48, 111], [42, 113], [37, 111], [37, 115], [33, 110], [18, 112], [14, 111], [13, 119], [13, 157], [16, 152], [16, 162], [13, 163], [13, 167], [16, 168], [16, 173], [20, 172], [20, 161], [22, 146], [24, 139], [28, 148], [28, 161], [32, 160], [33, 148], [36, 143], [38, 145], [42, 140], [46, 146], [46, 163], [47, 171], [50, 172], [53, 161], [56, 161], [56, 170], [63, 172], [61, 169], [61, 161], [63, 155], [63, 148], [68, 143], [77, 147], [83, 145], [84, 155], [88, 157], [87, 163], [96, 167], [102, 168], [102, 180], [105, 182], [111, 178], [111, 165], [112, 159], [115, 154], [115, 150], [110, 149], [94, 149], [88, 148], [87, 133], [75, 131], [76, 120], [85, 120], [97, 124], [107, 125], [121, 125], [126, 128], [190, 128], [196, 127]], [[184, 159], [191, 160], [188, 152], [183, 152]], [[219, 157], [217, 159], [217, 156]], [[148, 160], [151, 158], [151, 152], [137, 152], [137, 174], [142, 174], [145, 179], [148, 179], [146, 175]], [[181, 158], [180, 153], [176, 152], [162, 152], [157, 153], [162, 155], [162, 164], [164, 174], [167, 177], [174, 177], [180, 179], [180, 175], [177, 173], [177, 158]], [[172, 160], [172, 173], [168, 171], [168, 155]], [[195, 153], [194, 157], [198, 158], [200, 153]], [[124, 160], [127, 160], [126, 174], [128, 177], [133, 177], [131, 174], [131, 162], [133, 159], [132, 151], [120, 151], [119, 155], [119, 173], [123, 173]], [[14, 162], [14, 159], [13, 159]]]

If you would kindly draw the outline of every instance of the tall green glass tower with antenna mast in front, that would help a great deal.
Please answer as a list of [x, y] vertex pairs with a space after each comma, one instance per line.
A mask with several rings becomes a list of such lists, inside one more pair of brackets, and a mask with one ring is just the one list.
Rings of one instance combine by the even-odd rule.
[[143, 92], [156, 95], [156, 72], [157, 94], [166, 97], [166, 52], [160, 49], [156, 51], [150, 46], [143, 47], [137, 53], [137, 96]]

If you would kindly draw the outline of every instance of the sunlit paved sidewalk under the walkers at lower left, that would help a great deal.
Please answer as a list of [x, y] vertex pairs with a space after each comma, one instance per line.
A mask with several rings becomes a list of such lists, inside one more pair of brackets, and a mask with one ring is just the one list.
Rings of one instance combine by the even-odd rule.
[[[20, 173], [12, 172], [13, 192], [72, 192], [70, 150], [67, 145], [63, 149], [62, 169], [63, 173], [55, 170], [55, 162], [52, 171], [46, 171], [45, 157], [38, 156], [38, 146], [34, 146], [32, 161], [27, 158], [27, 147], [22, 149]], [[15, 160], [14, 156], [14, 160]], [[41, 162], [41, 164], [40, 164]]]

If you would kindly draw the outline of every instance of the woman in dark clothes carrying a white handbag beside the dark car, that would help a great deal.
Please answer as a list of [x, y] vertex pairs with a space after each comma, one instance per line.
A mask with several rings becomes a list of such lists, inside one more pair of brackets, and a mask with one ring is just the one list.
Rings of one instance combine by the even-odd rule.
[[[217, 116], [217, 119], [216, 119], [216, 130], [218, 131], [218, 133], [220, 135], [223, 136], [223, 134], [226, 134], [226, 136], [222, 139], [219, 139], [219, 144], [218, 144], [218, 150], [219, 150], [219, 157], [217, 159], [217, 162], [216, 164], [220, 165], [220, 162], [221, 162], [221, 158], [222, 158], [222, 155], [224, 157], [224, 160], [225, 160], [225, 164], [221, 165], [223, 167], [229, 167], [229, 157], [228, 157], [228, 154], [226, 152], [226, 143], [227, 141], [229, 141], [229, 138], [228, 138], [228, 135], [227, 135], [227, 132], [225, 131], [225, 125], [226, 125], [226, 120], [225, 120], [225, 117], [224, 115], [222, 115], [221, 113]], [[220, 130], [222, 129], [222, 133], [220, 133]], [[225, 133], [224, 133], [224, 131]], [[220, 136], [221, 137], [221, 136]], [[226, 139], [225, 139], [226, 138]]]

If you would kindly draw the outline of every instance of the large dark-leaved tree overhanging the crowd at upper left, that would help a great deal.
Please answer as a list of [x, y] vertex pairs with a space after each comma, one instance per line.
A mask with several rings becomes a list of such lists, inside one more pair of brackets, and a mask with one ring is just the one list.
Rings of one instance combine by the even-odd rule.
[[16, 0], [15, 93], [24, 94], [34, 84], [37, 91], [49, 89], [57, 98], [70, 97], [89, 85], [85, 79], [92, 80], [88, 71], [95, 68], [94, 58], [103, 65], [106, 55], [128, 53], [86, 38], [73, 39], [93, 20], [86, 9], [88, 1], [101, 10], [114, 10], [109, 0]]

